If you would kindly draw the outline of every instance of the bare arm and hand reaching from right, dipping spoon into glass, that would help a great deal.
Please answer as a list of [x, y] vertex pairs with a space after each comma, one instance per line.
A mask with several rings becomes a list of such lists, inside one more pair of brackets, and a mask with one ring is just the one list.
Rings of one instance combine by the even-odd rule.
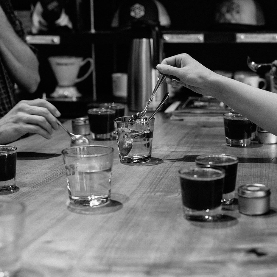
[[215, 97], [243, 116], [277, 135], [277, 94], [246, 85], [209, 70], [188, 54], [164, 59], [157, 65], [173, 86], [185, 86], [192, 91]]

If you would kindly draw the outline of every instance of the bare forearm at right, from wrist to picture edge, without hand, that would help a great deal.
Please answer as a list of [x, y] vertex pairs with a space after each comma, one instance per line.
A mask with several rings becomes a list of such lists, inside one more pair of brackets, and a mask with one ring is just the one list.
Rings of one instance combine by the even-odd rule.
[[[228, 107], [277, 135], [277, 94], [246, 85], [236, 80], [213, 75], [208, 90]], [[212, 93], [213, 92], [213, 93]]]

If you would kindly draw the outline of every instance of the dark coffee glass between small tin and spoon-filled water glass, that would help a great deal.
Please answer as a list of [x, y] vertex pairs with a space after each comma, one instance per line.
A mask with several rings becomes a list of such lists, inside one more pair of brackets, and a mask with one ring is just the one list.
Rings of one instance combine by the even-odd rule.
[[94, 108], [88, 110], [91, 138], [94, 140], [111, 140], [113, 138], [115, 110]]

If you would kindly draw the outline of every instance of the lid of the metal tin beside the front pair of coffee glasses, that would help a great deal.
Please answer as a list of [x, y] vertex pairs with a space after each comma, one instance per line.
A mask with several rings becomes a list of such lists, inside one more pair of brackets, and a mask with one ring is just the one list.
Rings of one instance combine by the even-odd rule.
[[238, 195], [248, 198], [264, 197], [270, 195], [270, 189], [263, 184], [246, 184], [238, 188]]

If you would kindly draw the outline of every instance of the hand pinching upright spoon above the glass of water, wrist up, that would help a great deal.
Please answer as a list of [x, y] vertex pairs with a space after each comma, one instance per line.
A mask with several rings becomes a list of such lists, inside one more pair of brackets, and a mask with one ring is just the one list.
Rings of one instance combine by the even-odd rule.
[[163, 74], [172, 76], [166, 78], [166, 83], [174, 87], [185, 86], [200, 94], [206, 94], [204, 91], [206, 82], [212, 74], [215, 74], [188, 54], [166, 58], [157, 65], [157, 69]]

